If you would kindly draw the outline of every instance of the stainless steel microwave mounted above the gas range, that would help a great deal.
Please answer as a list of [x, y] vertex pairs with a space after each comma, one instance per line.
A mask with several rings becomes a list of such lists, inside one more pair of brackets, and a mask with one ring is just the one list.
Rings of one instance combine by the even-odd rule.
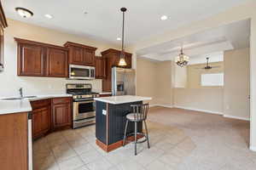
[[69, 65], [69, 79], [93, 80], [95, 79], [95, 67], [84, 65]]

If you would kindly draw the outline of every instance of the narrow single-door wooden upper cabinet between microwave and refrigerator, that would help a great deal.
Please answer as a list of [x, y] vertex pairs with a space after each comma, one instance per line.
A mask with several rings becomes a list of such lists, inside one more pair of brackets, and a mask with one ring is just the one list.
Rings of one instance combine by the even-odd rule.
[[106, 59], [104, 57], [96, 57], [96, 78], [102, 79], [106, 77]]

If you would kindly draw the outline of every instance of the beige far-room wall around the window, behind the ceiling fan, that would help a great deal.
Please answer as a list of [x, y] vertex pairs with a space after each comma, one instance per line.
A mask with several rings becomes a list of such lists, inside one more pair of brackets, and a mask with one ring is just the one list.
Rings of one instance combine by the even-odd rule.
[[187, 66], [187, 77], [188, 77], [188, 88], [222, 88], [222, 87], [202, 87], [201, 86], [201, 75], [206, 73], [220, 73], [224, 72], [224, 62], [210, 63], [211, 66], [219, 66], [218, 68], [212, 68], [211, 70], [200, 69], [206, 66], [206, 64], [188, 65]]

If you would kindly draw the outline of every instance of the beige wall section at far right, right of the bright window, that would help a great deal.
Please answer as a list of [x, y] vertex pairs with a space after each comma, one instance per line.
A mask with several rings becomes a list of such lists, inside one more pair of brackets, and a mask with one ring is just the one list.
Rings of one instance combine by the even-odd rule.
[[224, 53], [224, 115], [249, 119], [249, 48]]

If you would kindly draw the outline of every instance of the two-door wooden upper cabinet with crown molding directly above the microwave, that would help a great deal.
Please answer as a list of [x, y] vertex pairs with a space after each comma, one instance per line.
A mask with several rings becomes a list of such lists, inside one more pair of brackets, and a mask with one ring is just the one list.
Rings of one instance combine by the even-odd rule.
[[95, 66], [96, 48], [74, 42], [66, 42], [64, 46], [68, 48], [69, 64]]

